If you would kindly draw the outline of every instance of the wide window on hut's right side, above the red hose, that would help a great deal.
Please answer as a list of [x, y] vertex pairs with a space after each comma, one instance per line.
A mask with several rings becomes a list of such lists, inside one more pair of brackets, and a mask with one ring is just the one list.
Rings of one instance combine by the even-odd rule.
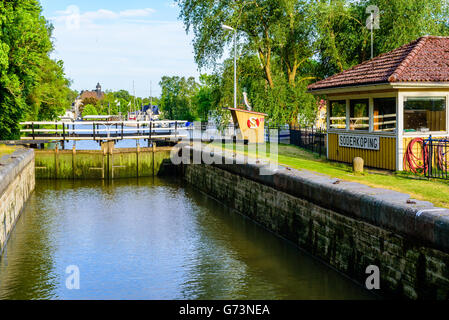
[[446, 131], [446, 98], [406, 97], [404, 131]]

